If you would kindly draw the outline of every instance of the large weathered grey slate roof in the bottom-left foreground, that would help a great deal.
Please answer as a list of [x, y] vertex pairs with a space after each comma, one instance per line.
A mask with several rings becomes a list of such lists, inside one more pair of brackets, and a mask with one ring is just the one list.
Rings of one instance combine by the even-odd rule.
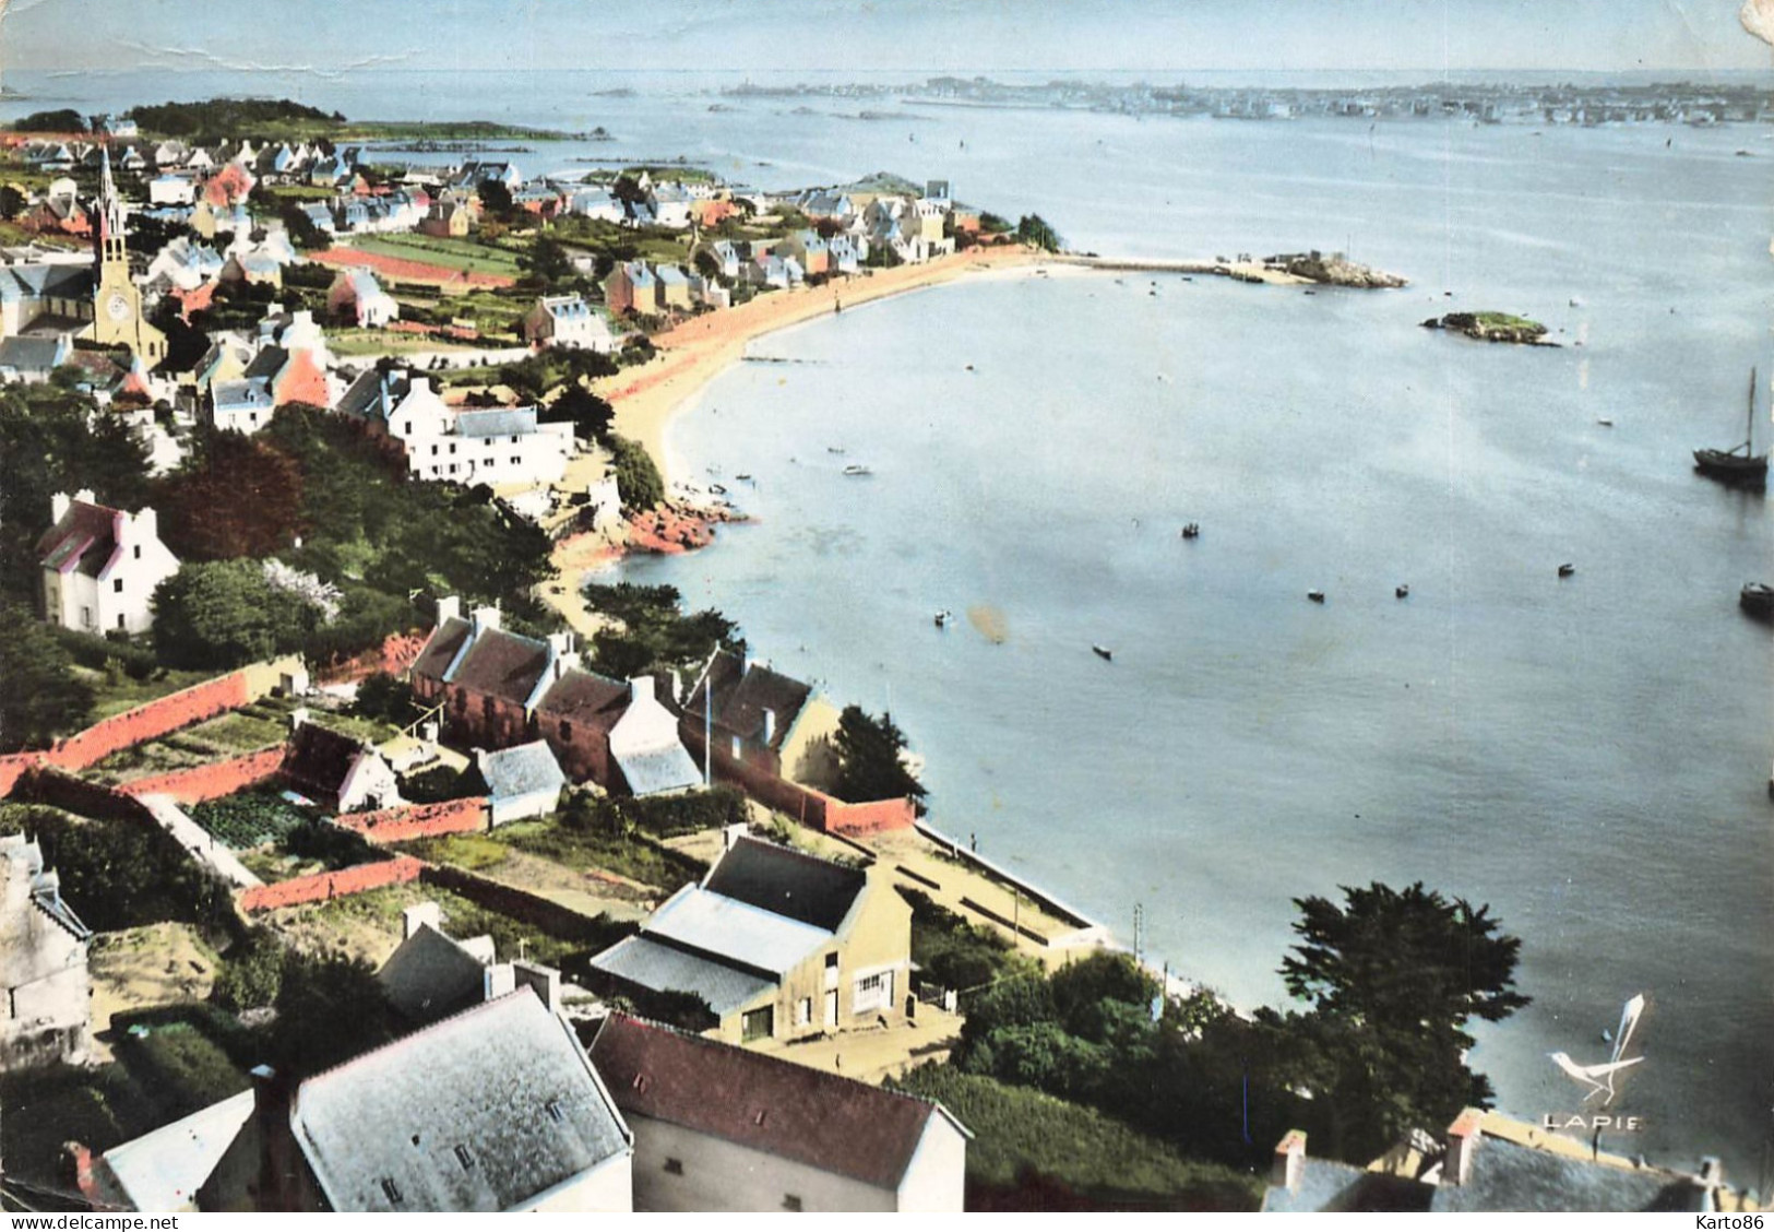
[[334, 1211], [507, 1211], [632, 1150], [527, 987], [310, 1078], [291, 1127]]

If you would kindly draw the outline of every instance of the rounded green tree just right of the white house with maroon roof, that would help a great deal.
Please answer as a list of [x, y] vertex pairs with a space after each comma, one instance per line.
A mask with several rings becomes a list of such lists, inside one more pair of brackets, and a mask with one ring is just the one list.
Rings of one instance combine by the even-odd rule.
[[319, 612], [257, 561], [186, 563], [154, 589], [154, 652], [174, 667], [231, 669], [298, 650]]

